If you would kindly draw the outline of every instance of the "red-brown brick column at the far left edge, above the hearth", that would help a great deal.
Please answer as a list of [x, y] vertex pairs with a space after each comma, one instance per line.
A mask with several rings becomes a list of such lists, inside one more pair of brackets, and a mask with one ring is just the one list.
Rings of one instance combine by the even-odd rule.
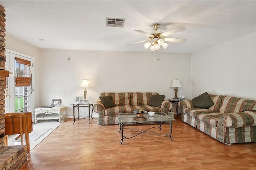
[[[0, 69], [5, 70], [5, 9], [0, 6]], [[6, 77], [0, 77], [0, 148], [4, 146], [5, 121], [3, 119], [4, 110], [4, 89], [6, 88]]]

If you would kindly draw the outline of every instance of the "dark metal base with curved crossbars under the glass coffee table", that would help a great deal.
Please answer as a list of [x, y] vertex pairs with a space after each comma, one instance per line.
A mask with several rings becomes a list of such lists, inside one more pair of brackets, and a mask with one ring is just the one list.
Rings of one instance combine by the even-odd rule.
[[[170, 133], [169, 134], [164, 134], [164, 135], [159, 135], [159, 134], [154, 134], [154, 133], [151, 133], [151, 132], [146, 132], [147, 130], [149, 129], [152, 129], [152, 128], [159, 128], [160, 130], [162, 129], [161, 125], [164, 125], [164, 124], [170, 124]], [[146, 130], [138, 130], [138, 129], [133, 129], [133, 128], [124, 128], [126, 126], [142, 126], [142, 125], [159, 125], [158, 127], [151, 127], [151, 128], [148, 128]], [[136, 130], [136, 131], [139, 131], [138, 134], [132, 136], [132, 137], [129, 137], [129, 138], [126, 138], [126, 136], [124, 136], [124, 129], [130, 129], [130, 130]], [[121, 132], [121, 142], [120, 144], [122, 144], [123, 140], [124, 139], [130, 139], [130, 138], [133, 138], [135, 136], [138, 136], [139, 134], [142, 134], [142, 133], [148, 133], [148, 134], [153, 134], [153, 135], [157, 135], [157, 136], [164, 136], [164, 137], [170, 137], [170, 140], [172, 141], [172, 121], [169, 122], [161, 122], [161, 123], [137, 123], [137, 124], [124, 124], [124, 123], [119, 123], [119, 132]]]

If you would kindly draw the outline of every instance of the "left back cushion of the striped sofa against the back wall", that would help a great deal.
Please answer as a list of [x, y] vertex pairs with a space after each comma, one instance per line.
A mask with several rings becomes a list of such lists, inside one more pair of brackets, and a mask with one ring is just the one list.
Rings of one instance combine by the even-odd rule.
[[115, 105], [130, 105], [131, 93], [101, 93], [100, 96], [111, 96]]

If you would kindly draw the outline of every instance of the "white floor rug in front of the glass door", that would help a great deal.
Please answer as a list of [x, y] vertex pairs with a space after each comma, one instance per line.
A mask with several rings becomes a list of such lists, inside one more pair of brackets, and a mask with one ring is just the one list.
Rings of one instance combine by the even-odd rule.
[[[57, 121], [38, 121], [33, 123], [33, 131], [29, 134], [30, 139], [30, 150], [32, 150], [36, 145], [38, 145], [42, 140], [44, 140], [49, 134], [51, 134], [56, 128], [58, 128], [62, 123]], [[8, 145], [20, 145], [21, 140], [15, 140], [19, 136], [18, 134], [8, 136]], [[23, 138], [25, 143], [25, 136]]]

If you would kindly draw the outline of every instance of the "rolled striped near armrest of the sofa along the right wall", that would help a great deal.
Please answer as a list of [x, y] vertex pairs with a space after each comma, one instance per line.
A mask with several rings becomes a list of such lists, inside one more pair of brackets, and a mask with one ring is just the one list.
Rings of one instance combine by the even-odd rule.
[[238, 113], [224, 113], [220, 116], [218, 126], [224, 128], [240, 128], [256, 126], [256, 111], [244, 111]]

